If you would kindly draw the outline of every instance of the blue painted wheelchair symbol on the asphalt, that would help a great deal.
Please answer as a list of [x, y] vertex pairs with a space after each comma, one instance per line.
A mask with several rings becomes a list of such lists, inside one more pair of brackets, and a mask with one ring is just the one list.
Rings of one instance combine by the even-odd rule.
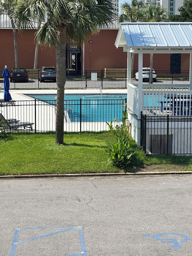
[[[178, 241], [178, 239], [176, 239], [176, 238], [160, 238], [161, 236], [164, 236], [164, 235], [182, 236], [184, 239], [182, 239], [182, 240], [179, 239], [179, 241]], [[145, 234], [142, 236], [149, 236], [157, 241], [161, 241], [162, 243], [173, 243], [172, 248], [182, 248], [182, 246], [180, 245], [180, 242], [184, 243], [184, 242], [189, 241], [189, 239], [190, 239], [188, 236], [186, 236], [184, 234], [179, 234], [179, 233], [160, 233], [155, 236], [152, 236], [150, 234]]]

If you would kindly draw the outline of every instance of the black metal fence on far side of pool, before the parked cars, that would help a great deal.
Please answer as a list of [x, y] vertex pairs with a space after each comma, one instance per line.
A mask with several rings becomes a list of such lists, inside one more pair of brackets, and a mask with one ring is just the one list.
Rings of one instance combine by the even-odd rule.
[[[132, 72], [132, 83], [138, 83], [135, 80], [137, 71]], [[2, 74], [3, 71], [0, 71]], [[10, 71], [11, 73], [11, 71]], [[157, 81], [154, 84], [186, 84], [189, 83], [189, 71], [181, 71], [181, 74], [171, 74], [170, 71], [156, 71]], [[29, 81], [13, 80], [10, 83], [10, 89], [56, 89], [54, 81], [40, 82], [40, 70], [28, 71]], [[145, 83], [149, 80], [145, 79]], [[0, 87], [3, 88], [3, 77], [0, 77]], [[85, 70], [66, 73], [66, 89], [116, 89], [127, 87], [126, 69], [117, 70]]]

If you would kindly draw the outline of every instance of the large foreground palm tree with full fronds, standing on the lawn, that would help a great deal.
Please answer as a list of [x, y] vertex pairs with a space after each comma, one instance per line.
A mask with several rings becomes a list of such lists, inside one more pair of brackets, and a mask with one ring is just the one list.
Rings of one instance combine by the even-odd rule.
[[28, 7], [21, 8], [19, 27], [29, 27], [33, 21], [46, 19], [37, 30], [36, 37], [43, 46], [54, 46], [57, 69], [56, 143], [63, 144], [64, 85], [66, 81], [66, 43], [81, 44], [97, 27], [109, 27], [115, 14], [110, 0], [27, 0]]

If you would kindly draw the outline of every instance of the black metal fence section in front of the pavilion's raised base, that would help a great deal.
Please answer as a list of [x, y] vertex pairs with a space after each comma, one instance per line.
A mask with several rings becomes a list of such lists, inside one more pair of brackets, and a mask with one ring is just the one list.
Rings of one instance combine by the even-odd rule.
[[141, 113], [141, 145], [147, 154], [191, 155], [192, 116], [146, 116]]

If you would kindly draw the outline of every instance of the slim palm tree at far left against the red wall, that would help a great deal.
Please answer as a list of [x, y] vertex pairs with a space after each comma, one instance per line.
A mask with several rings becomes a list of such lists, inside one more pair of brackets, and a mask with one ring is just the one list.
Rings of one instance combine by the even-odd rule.
[[21, 4], [21, 1], [18, 1], [18, 0], [0, 1], [0, 14], [5, 14], [10, 18], [11, 26], [13, 29], [15, 68], [19, 68], [19, 64], [18, 64], [18, 53], [17, 53], [17, 33], [16, 33], [15, 20], [13, 18], [13, 15], [17, 7], [19, 8], [19, 4]]

